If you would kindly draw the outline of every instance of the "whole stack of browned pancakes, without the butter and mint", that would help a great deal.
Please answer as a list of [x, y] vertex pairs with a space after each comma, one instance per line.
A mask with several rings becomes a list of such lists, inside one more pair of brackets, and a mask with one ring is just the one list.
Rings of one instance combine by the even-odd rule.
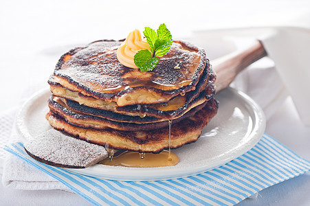
[[48, 81], [49, 124], [93, 144], [139, 152], [196, 141], [217, 113], [206, 52], [174, 41], [153, 71], [142, 72], [120, 64], [121, 43], [96, 41], [61, 56]]

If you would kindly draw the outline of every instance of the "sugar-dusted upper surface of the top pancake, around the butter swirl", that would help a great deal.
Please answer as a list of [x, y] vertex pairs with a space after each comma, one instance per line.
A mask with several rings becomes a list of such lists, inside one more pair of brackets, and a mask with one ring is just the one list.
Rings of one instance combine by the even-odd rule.
[[[145, 73], [140, 72], [139, 69], [124, 67], [118, 61], [116, 50], [121, 43], [120, 41], [98, 41], [83, 49], [76, 49], [75, 54], [72, 54], [60, 67], [56, 67], [54, 74], [68, 78], [74, 84], [92, 91], [117, 93], [127, 86], [162, 89], [162, 85], [191, 82], [205, 67], [206, 59], [201, 58], [202, 51], [186, 47], [181, 42], [175, 42], [170, 52], [160, 58], [155, 69], [149, 71], [151, 75], [146, 78]], [[174, 69], [176, 65], [179, 69]], [[113, 91], [108, 92], [107, 89]]]

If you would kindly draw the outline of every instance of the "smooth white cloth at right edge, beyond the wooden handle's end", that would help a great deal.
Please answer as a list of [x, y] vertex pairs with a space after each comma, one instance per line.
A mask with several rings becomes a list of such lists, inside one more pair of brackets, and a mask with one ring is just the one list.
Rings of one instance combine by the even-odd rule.
[[[310, 24], [309, 24], [310, 26]], [[291, 95], [302, 122], [310, 126], [310, 30], [276, 27], [261, 38]]]

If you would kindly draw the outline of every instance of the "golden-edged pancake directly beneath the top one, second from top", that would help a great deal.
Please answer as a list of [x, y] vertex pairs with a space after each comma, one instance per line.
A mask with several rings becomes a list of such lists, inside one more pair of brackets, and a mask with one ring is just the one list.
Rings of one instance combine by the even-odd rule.
[[65, 89], [65, 87], [62, 87], [60, 84], [54, 82], [53, 78], [49, 79], [49, 84], [53, 95], [65, 98], [66, 100], [73, 100], [79, 104], [89, 106], [91, 108], [113, 111], [123, 115], [140, 117], [151, 116], [171, 119], [176, 115], [186, 113], [186, 111], [188, 111], [188, 106], [192, 105], [190, 102], [197, 98], [201, 92], [205, 91], [207, 100], [212, 98], [215, 93], [215, 79], [216, 76], [212, 68], [210, 68], [210, 71], [208, 71], [208, 69], [204, 69], [203, 76], [201, 77], [201, 80], [199, 80], [195, 90], [190, 91], [185, 95], [177, 95], [175, 98], [162, 104], [135, 104], [130, 106], [118, 106], [115, 102], [106, 102], [104, 100], [98, 100], [96, 98], [82, 95], [78, 92], [69, 91], [68, 89]]

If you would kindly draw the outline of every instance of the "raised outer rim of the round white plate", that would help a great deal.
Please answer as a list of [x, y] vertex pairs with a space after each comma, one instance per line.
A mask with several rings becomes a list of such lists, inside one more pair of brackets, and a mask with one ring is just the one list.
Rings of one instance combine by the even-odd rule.
[[[23, 137], [23, 140], [32, 137], [28, 133], [27, 126], [24, 120], [27, 111], [28, 109], [30, 109], [30, 106], [33, 106], [35, 100], [42, 98], [42, 96], [48, 92], [47, 90], [49, 91], [48, 87], [43, 88], [40, 91], [34, 93], [34, 95], [32, 95], [23, 104], [23, 106], [21, 106], [21, 109], [16, 115], [16, 128], [19, 134]], [[213, 170], [214, 168], [218, 168], [221, 165], [224, 165], [225, 163], [228, 163], [229, 161], [232, 161], [233, 159], [240, 157], [245, 152], [250, 150], [253, 146], [255, 146], [261, 139], [263, 133], [265, 132], [265, 125], [266, 125], [266, 119], [262, 108], [254, 100], [252, 100], [250, 96], [232, 87], [228, 87], [225, 90], [229, 90], [230, 92], [234, 93], [234, 95], [239, 95], [239, 98], [245, 101], [245, 103], [247, 103], [250, 106], [250, 108], [252, 108], [251, 111], [254, 112], [254, 116], [253, 115], [250, 116], [252, 118], [255, 117], [255, 124], [253, 124], [252, 132], [249, 134], [250, 137], [249, 139], [252, 141], [251, 144], [247, 146], [243, 144], [243, 147], [239, 147], [238, 150], [234, 152], [235, 154], [230, 155], [230, 157], [225, 157], [224, 159], [221, 159], [221, 161], [213, 162], [208, 166], [203, 165], [201, 167], [197, 167], [195, 168], [195, 170], [192, 168], [185, 169], [183, 167], [178, 168], [177, 170], [176, 169], [171, 170], [171, 166], [164, 168], [126, 168], [127, 171], [131, 172], [130, 176], [124, 176], [124, 169], [123, 168], [121, 169], [120, 167], [113, 166], [113, 169], [107, 170], [107, 168], [111, 168], [111, 166], [107, 165], [93, 165], [85, 169], [69, 169], [69, 168], [64, 169], [74, 173], [83, 174], [86, 176], [92, 176], [99, 179], [109, 179], [116, 181], [158, 181], [158, 180], [177, 179], [181, 177], [192, 176], [195, 174]], [[112, 171], [113, 174], [111, 175]], [[146, 172], [148, 174], [147, 176], [145, 175]], [[164, 172], [164, 174], [159, 174], [162, 172]]]

